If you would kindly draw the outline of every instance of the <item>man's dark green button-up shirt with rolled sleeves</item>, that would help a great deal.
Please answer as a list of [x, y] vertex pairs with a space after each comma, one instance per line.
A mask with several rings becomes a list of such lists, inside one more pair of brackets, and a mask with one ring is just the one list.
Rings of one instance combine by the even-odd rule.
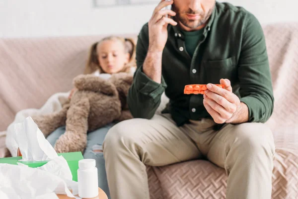
[[170, 113], [178, 126], [189, 120], [210, 118], [203, 95], [185, 95], [188, 84], [219, 84], [230, 80], [233, 93], [248, 106], [249, 122], [265, 122], [273, 111], [273, 89], [265, 37], [255, 16], [242, 7], [216, 2], [204, 27], [201, 41], [191, 57], [178, 26], [168, 25], [162, 53], [161, 84], [143, 72], [149, 47], [148, 23], [138, 36], [137, 70], [129, 90], [128, 105], [134, 117], [150, 119], [165, 92]]

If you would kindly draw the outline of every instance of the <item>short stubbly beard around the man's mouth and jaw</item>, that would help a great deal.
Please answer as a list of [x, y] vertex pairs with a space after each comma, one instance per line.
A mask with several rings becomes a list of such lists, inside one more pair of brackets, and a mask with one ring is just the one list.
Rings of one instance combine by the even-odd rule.
[[201, 16], [200, 19], [193, 20], [193, 19], [187, 19], [186, 17], [185, 18], [181, 17], [180, 10], [175, 7], [175, 4], [173, 4], [172, 6], [173, 6], [173, 11], [175, 11], [177, 13], [175, 16], [177, 22], [180, 21], [184, 26], [186, 26], [188, 28], [197, 28], [197, 27], [205, 24], [209, 20], [211, 14], [215, 8], [215, 4], [214, 4], [213, 7], [205, 15], [204, 15], [204, 12], [193, 11], [192, 9], [189, 8], [187, 10], [187, 12], [185, 12], [186, 14], [199, 14]]

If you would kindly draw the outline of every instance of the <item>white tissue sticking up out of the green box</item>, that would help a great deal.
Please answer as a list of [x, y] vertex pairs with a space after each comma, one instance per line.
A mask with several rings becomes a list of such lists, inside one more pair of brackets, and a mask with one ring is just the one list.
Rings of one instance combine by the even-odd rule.
[[20, 161], [45, 161], [58, 157], [31, 117], [14, 124], [13, 136], [22, 154]]

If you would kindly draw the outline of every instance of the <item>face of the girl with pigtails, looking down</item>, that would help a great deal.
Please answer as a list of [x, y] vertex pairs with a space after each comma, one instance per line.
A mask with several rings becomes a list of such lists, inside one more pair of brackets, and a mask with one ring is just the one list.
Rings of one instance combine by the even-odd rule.
[[104, 73], [118, 73], [129, 62], [130, 54], [125, 52], [122, 41], [104, 40], [97, 45], [99, 65]]

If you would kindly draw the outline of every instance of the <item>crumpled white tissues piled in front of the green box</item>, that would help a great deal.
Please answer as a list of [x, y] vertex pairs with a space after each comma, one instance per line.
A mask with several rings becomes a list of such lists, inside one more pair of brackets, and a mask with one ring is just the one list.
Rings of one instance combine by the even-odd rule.
[[38, 168], [0, 164], [0, 179], [0, 192], [9, 199], [35, 199], [51, 193], [74, 198], [60, 177]]

